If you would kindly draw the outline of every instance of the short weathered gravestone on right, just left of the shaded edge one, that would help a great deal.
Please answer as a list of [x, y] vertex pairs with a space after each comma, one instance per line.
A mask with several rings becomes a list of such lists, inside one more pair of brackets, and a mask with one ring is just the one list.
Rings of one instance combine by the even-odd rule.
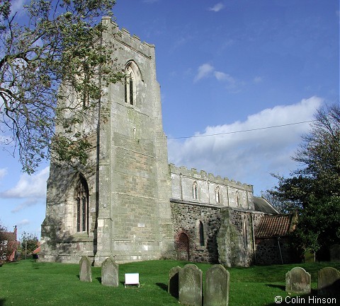
[[296, 266], [285, 273], [285, 291], [288, 293], [310, 294], [310, 273]]

